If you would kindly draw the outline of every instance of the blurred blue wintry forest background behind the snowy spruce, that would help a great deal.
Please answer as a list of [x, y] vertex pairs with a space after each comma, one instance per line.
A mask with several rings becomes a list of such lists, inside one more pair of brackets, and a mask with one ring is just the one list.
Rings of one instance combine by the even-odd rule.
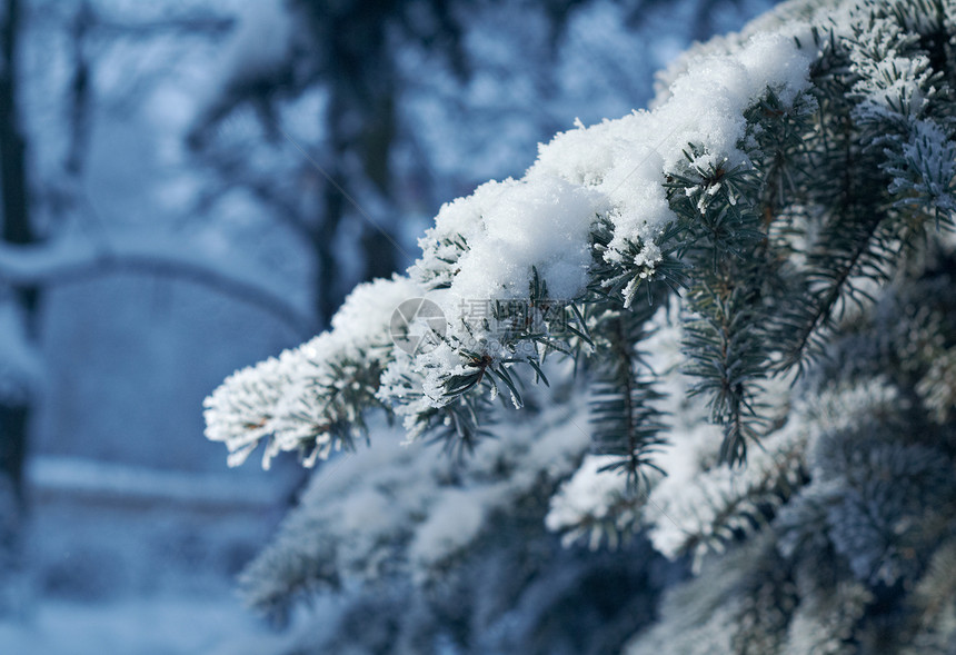
[[279, 638], [231, 589], [305, 474], [203, 397], [771, 3], [3, 0], [0, 651]]

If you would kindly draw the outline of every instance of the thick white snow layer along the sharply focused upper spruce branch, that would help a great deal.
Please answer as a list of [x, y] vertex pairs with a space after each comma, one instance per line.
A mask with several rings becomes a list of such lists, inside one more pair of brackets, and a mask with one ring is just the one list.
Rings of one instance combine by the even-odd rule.
[[[685, 159], [688, 143], [699, 147], [697, 165], [748, 166], [738, 149], [746, 129], [743, 112], [768, 88], [791, 102], [807, 87], [811, 53], [794, 39], [806, 37], [807, 29], [793, 23], [779, 33], [755, 36], [731, 54], [701, 57], [657, 109], [591, 127], [578, 123], [541, 145], [520, 180], [491, 181], [445, 205], [419, 241], [422, 255], [409, 279], [394, 279], [388, 292], [386, 286], [376, 287], [381, 311], [355, 312], [347, 304], [327, 335], [230, 377], [207, 401], [207, 436], [229, 446], [233, 465], [270, 435], [265, 462], [277, 448], [295, 449], [308, 429], [288, 419], [290, 407], [308, 415], [308, 407], [322, 405], [313, 393], [316, 381], [326, 379], [329, 361], [346, 349], [361, 360], [361, 350], [375, 346], [371, 357], [385, 365], [377, 398], [406, 415], [410, 430], [420, 429], [417, 417], [455, 399], [446, 394], [448, 380], [472, 373], [476, 354], [492, 363], [536, 359], [534, 348], [521, 354], [516, 353], [520, 344], [505, 343], [506, 326], [466, 315], [462, 304], [527, 298], [536, 276], [551, 300], [581, 297], [594, 282], [590, 235], [599, 219], [614, 229], [604, 260], [653, 275], [664, 229], [676, 218], [663, 186], [666, 175]], [[628, 245], [637, 248], [629, 261]], [[389, 349], [388, 305], [394, 309], [426, 291], [448, 319], [445, 339], [412, 357]], [[361, 335], [369, 330], [381, 338], [367, 344]], [[305, 356], [307, 350], [312, 355]], [[327, 456], [329, 444], [312, 455]]]

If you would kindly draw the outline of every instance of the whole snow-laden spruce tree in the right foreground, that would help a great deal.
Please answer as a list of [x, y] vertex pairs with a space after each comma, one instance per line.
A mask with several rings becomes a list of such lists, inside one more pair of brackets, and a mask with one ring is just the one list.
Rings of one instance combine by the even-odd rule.
[[[649, 629], [629, 614], [628, 652], [952, 653], [954, 16], [804, 0], [699, 46], [651, 111], [579, 125], [520, 180], [446, 205], [407, 276], [228, 378], [207, 435], [232, 464], [262, 443], [266, 465], [312, 465], [369, 440], [375, 413], [407, 431], [316, 479], [247, 572], [250, 599], [281, 614], [355, 578], [405, 584], [419, 627], [381, 629], [419, 641], [368, 649], [548, 652], [528, 637], [540, 624], [521, 641], [501, 617], [559, 614], [559, 594], [530, 589], [561, 566], [582, 606], [599, 594], [519, 536], [544, 520], [645, 576], [679, 570], [637, 554], [645, 537], [691, 565], [617, 599], [674, 586]], [[394, 340], [412, 298], [447, 319], [401, 315], [428, 347]], [[500, 557], [530, 564], [481, 568]], [[488, 580], [510, 592], [482, 598]], [[561, 647], [619, 645], [611, 614]]]

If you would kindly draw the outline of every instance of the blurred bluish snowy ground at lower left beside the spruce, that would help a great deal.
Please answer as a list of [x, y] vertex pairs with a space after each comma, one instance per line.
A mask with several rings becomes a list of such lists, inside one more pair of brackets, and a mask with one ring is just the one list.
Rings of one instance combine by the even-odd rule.
[[295, 631], [271, 629], [236, 593], [283, 512], [282, 478], [63, 456], [27, 470], [29, 582], [7, 589], [22, 608], [0, 617], [0, 655], [290, 649]]

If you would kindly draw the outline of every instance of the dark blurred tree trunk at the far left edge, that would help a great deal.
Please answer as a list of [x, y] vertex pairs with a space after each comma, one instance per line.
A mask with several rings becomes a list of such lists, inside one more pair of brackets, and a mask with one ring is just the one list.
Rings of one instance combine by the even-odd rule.
[[[20, 2], [6, 0], [0, 27], [0, 207], [2, 207], [2, 238], [10, 244], [30, 244], [36, 239], [30, 222], [30, 204], [27, 183], [27, 146], [20, 131], [17, 110], [17, 50], [20, 33]], [[32, 331], [39, 292], [37, 288], [18, 289], [13, 301], [21, 305]], [[0, 335], [0, 338], [9, 336]], [[7, 573], [19, 566], [20, 533], [24, 512], [23, 459], [27, 453], [27, 430], [30, 423], [29, 399], [10, 400], [0, 397], [0, 494], [4, 499], [0, 509], [0, 566]], [[3, 490], [6, 489], [6, 492]]]

